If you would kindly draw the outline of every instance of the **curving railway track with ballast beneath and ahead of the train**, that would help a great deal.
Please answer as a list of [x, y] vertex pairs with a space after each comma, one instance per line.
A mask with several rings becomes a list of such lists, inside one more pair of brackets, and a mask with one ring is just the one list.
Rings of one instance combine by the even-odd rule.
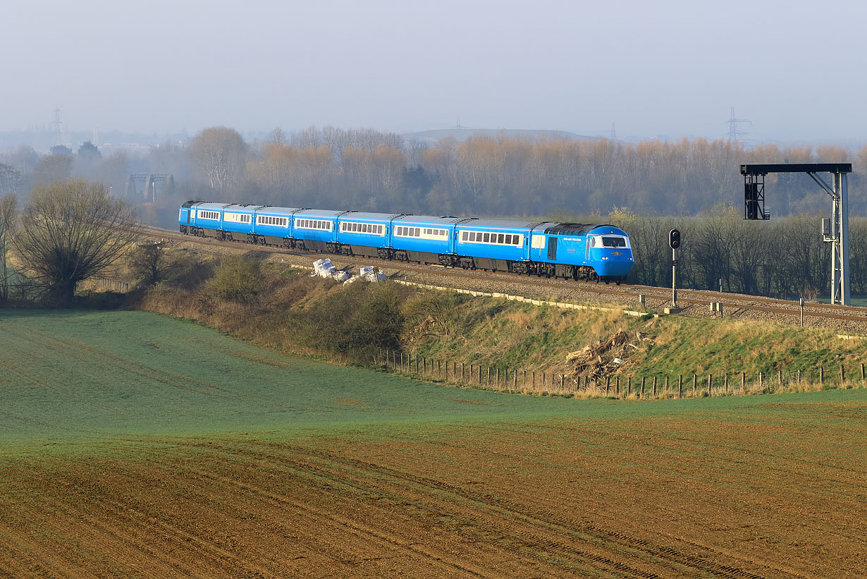
[[[329, 257], [329, 259], [335, 262], [336, 265], [372, 265], [379, 266], [382, 269], [394, 270], [395, 272], [414, 273], [423, 276], [443, 276], [454, 280], [453, 283], [455, 285], [466, 285], [461, 284], [459, 280], [464, 280], [465, 282], [473, 283], [477, 286], [499, 282], [512, 284], [518, 286], [518, 288], [525, 288], [528, 291], [535, 290], [540, 293], [551, 292], [551, 290], [576, 290], [578, 292], [595, 294], [597, 296], [605, 296], [608, 299], [619, 301], [628, 304], [629, 306], [635, 306], [636, 303], [639, 302], [640, 296], [644, 296], [645, 304], [652, 309], [662, 309], [671, 304], [671, 289], [665, 287], [630, 286], [626, 284], [621, 286], [611, 286], [590, 281], [532, 278], [518, 273], [483, 272], [479, 270], [470, 271], [453, 269], [440, 265], [383, 261], [375, 258], [365, 258], [360, 256], [349, 257], [337, 254], [332, 255], [330, 253], [312, 253], [288, 249], [285, 247], [251, 246], [243, 241], [225, 241], [214, 240], [207, 237], [195, 237], [192, 235], [173, 232], [168, 229], [162, 229], [160, 227], [147, 227], [147, 231], [150, 234], [158, 235], [163, 239], [200, 243], [212, 247], [246, 248], [258, 252], [291, 255], [305, 260], [317, 259], [321, 255]], [[518, 293], [521, 292], [518, 291]], [[677, 302], [678, 306], [698, 306], [691, 308], [695, 310], [695, 312], [690, 312], [690, 314], [701, 314], [701, 306], [708, 306], [707, 309], [704, 310], [704, 315], [707, 316], [710, 315], [709, 306], [713, 302], [722, 304], [722, 315], [729, 317], [740, 317], [743, 313], [766, 313], [774, 316], [785, 316], [788, 323], [797, 323], [802, 315], [802, 309], [797, 301], [736, 293], [679, 289]], [[858, 324], [864, 324], [865, 329], [867, 329], [867, 308], [865, 307], [805, 302], [803, 317], [805, 319], [815, 320], [857, 322]], [[861, 328], [855, 329], [860, 330]]]

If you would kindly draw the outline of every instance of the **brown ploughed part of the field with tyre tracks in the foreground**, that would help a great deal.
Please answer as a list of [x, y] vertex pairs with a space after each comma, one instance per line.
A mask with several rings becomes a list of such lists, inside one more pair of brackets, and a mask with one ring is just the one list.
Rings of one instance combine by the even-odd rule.
[[822, 396], [49, 447], [0, 463], [0, 575], [863, 576], [865, 397]]

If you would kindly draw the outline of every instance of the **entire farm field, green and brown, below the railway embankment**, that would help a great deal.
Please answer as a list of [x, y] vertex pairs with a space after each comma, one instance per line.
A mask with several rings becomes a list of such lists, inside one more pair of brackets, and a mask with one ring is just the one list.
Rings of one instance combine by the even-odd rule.
[[0, 323], [44, 356], [0, 354], [0, 576], [864, 573], [864, 389], [520, 397], [153, 314]]

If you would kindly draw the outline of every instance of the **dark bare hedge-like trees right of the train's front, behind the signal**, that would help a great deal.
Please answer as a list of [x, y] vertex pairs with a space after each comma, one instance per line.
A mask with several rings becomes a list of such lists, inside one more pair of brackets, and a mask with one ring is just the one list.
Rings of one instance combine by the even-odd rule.
[[[780, 297], [826, 298], [831, 287], [831, 244], [820, 221], [794, 215], [746, 221], [740, 207], [716, 207], [699, 217], [647, 217], [617, 209], [610, 222], [629, 233], [635, 283], [671, 284], [668, 232], [681, 230], [678, 286]], [[850, 272], [854, 293], [867, 293], [867, 219], [850, 220]]]

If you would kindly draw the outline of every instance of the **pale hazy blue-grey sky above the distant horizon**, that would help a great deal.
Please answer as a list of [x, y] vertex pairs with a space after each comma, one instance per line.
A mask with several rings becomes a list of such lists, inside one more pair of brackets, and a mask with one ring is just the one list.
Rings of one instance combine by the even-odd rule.
[[867, 3], [7, 0], [0, 130], [867, 141]]

